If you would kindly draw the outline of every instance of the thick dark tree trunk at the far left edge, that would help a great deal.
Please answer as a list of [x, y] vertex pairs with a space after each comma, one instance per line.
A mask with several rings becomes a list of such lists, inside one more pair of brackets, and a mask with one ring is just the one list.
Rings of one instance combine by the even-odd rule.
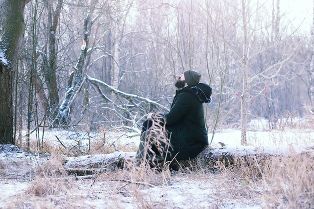
[[13, 138], [13, 85], [24, 32], [24, 7], [29, 1], [0, 1], [0, 143]]

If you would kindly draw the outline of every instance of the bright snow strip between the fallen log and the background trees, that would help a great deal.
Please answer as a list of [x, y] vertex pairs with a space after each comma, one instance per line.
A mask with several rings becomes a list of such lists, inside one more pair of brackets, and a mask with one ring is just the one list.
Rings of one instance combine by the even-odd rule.
[[[295, 123], [304, 123], [295, 121]], [[285, 128], [284, 130], [269, 130], [266, 120], [252, 120], [249, 123], [247, 131], [248, 145], [253, 146], [308, 146], [314, 143], [314, 129]], [[31, 134], [31, 138], [36, 139], [36, 132]], [[24, 134], [26, 135], [26, 134]], [[241, 141], [241, 131], [235, 129], [217, 130], [212, 140], [212, 133], [209, 132], [209, 142], [211, 146], [220, 147], [218, 142], [223, 142], [231, 146], [239, 146]], [[39, 138], [42, 140], [43, 133], [40, 131]], [[104, 137], [105, 136], [105, 137]], [[133, 137], [132, 137], [133, 136]], [[137, 146], [139, 144], [139, 132], [129, 132], [129, 130], [113, 130], [105, 134], [99, 132], [74, 132], [65, 130], [46, 130], [44, 132], [44, 141], [49, 141], [55, 145], [60, 145], [59, 140], [69, 147], [80, 145], [86, 147], [90, 142], [95, 140], [104, 140], [105, 143], [119, 144], [120, 147], [125, 145]], [[105, 139], [104, 139], [105, 138]], [[123, 150], [123, 148], [122, 148]]]

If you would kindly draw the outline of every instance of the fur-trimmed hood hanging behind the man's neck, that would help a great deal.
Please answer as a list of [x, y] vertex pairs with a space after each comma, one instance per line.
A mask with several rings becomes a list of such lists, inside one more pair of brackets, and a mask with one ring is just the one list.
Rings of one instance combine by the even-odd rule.
[[205, 83], [199, 83], [195, 86], [188, 86], [183, 91], [192, 93], [201, 103], [210, 103], [212, 101], [212, 87]]

